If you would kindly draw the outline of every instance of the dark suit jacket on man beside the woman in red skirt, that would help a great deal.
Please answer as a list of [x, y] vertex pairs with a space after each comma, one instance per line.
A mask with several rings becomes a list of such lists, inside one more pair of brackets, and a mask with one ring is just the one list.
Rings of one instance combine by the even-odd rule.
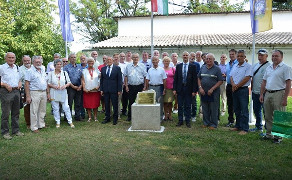
[[121, 68], [117, 65], [113, 65], [110, 73], [110, 77], [107, 76], [108, 65], [101, 68], [100, 76], [100, 91], [104, 93], [118, 93], [122, 92], [123, 78]]

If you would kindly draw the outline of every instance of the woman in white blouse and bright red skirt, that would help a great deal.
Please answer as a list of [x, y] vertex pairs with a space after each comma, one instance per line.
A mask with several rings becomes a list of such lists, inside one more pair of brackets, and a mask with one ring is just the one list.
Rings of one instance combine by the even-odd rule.
[[83, 107], [86, 108], [88, 121], [91, 122], [91, 109], [93, 109], [94, 121], [97, 120], [97, 108], [100, 106], [100, 71], [94, 68], [94, 59], [87, 59], [88, 68], [82, 71], [82, 87], [83, 87]]

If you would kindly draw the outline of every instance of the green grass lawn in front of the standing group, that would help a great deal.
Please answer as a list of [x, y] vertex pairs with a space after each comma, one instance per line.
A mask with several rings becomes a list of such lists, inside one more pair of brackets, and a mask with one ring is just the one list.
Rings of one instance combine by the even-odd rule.
[[[199, 100], [199, 99], [198, 99]], [[289, 98], [288, 112], [292, 112]], [[61, 121], [55, 128], [47, 104], [48, 129], [35, 134], [26, 129], [23, 137], [0, 138], [0, 180], [75, 179], [175, 179], [175, 180], [288, 180], [292, 177], [292, 140], [276, 145], [260, 140], [259, 132], [240, 136], [225, 128], [227, 113], [219, 128], [201, 128], [202, 119], [176, 127], [163, 122], [163, 133], [129, 132], [126, 116], [116, 126], [100, 122], [73, 122], [75, 129]], [[151, 112], [145, 112], [145, 115]], [[251, 128], [254, 126], [251, 126]], [[290, 177], [290, 178], [289, 178]]]

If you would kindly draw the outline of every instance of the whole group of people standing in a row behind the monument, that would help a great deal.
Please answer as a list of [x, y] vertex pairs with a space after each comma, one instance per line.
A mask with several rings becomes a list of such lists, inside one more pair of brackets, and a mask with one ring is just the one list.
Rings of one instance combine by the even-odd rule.
[[[97, 112], [101, 105], [101, 113], [105, 112], [101, 123], [110, 122], [112, 116], [113, 125], [116, 125], [121, 114], [127, 115], [127, 121], [131, 121], [131, 105], [138, 92], [153, 89], [157, 103], [161, 104], [161, 122], [172, 121], [172, 113], [178, 113], [176, 126], [182, 126], [185, 121], [190, 128], [190, 122], [196, 122], [198, 94], [201, 102], [198, 115], [203, 119], [203, 128], [215, 130], [219, 116], [225, 115], [227, 108], [228, 124], [225, 127], [235, 125], [230, 130], [240, 131], [240, 135], [248, 131], [263, 131], [262, 109], [266, 109], [263, 112], [267, 133], [262, 139], [274, 139], [274, 143], [279, 143], [281, 138], [271, 133], [274, 110], [286, 110], [292, 69], [284, 64], [281, 50], [272, 52], [272, 63], [267, 61], [268, 50], [259, 49], [257, 54], [259, 62], [252, 66], [245, 61], [246, 52], [236, 49], [229, 50], [229, 63], [226, 62], [226, 54], [221, 54], [218, 63], [214, 54], [201, 51], [184, 51], [183, 62], [178, 61], [175, 52], [170, 57], [163, 52], [163, 59], [160, 59], [158, 50], [153, 51], [152, 58], [143, 51], [139, 61], [138, 53], [127, 51], [115, 53], [112, 57], [104, 55], [101, 65], [96, 51], [92, 51], [89, 58], [81, 55], [81, 64], [76, 64], [74, 53], [69, 54], [69, 62], [55, 53], [54, 61], [48, 64], [45, 71], [41, 56], [33, 56], [31, 65], [30, 56], [24, 55], [23, 65], [18, 70], [15, 54], [7, 52], [6, 63], [0, 66], [3, 87], [0, 89], [1, 133], [5, 139], [12, 138], [8, 129], [11, 112], [12, 134], [24, 135], [18, 125], [19, 89], [22, 86], [25, 89], [23, 102], [27, 103], [24, 107], [27, 128], [36, 133], [46, 128], [44, 116], [47, 100], [52, 104], [56, 128], [60, 128], [61, 111], [64, 112], [64, 119], [74, 128], [73, 102], [74, 120], [85, 121], [87, 112], [87, 122], [91, 122], [92, 118], [98, 121]], [[254, 129], [249, 129], [248, 125], [249, 85], [256, 116]]]

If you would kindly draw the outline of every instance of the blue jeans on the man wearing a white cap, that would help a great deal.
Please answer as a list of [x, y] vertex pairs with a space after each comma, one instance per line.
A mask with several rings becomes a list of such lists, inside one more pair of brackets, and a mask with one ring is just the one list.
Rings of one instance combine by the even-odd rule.
[[264, 103], [259, 101], [259, 94], [253, 93], [253, 109], [256, 116], [256, 128], [259, 130], [263, 129], [262, 124], [262, 109], [265, 114]]

